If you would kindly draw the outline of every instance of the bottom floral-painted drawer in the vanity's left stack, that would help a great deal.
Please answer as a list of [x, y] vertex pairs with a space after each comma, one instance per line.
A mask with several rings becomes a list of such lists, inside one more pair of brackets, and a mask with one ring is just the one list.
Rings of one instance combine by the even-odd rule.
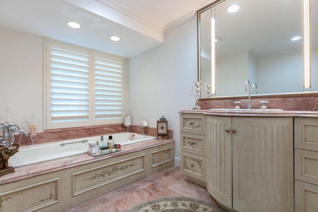
[[181, 167], [183, 174], [206, 182], [205, 157], [185, 151], [181, 151], [181, 155]]

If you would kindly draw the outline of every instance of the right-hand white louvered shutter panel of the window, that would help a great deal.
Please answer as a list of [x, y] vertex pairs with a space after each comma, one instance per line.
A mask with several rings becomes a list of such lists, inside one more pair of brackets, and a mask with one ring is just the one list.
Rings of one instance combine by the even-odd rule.
[[95, 54], [95, 123], [120, 123], [123, 119], [123, 66], [121, 58]]

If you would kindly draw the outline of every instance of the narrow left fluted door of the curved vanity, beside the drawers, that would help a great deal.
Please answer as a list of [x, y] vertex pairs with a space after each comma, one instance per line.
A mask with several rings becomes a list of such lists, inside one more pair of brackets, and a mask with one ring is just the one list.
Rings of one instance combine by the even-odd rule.
[[207, 116], [207, 190], [232, 208], [231, 117]]

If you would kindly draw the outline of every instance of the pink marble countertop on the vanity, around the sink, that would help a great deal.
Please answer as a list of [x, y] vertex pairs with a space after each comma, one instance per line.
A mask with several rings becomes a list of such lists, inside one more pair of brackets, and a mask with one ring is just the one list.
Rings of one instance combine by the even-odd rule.
[[204, 114], [210, 116], [235, 116], [235, 117], [308, 117], [318, 118], [318, 111], [274, 111], [274, 110], [181, 110], [179, 113]]

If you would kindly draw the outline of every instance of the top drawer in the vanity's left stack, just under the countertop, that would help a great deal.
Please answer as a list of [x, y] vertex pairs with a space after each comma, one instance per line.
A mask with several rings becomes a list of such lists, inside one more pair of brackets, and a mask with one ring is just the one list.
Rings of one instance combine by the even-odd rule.
[[205, 115], [180, 114], [180, 131], [184, 133], [205, 135]]

